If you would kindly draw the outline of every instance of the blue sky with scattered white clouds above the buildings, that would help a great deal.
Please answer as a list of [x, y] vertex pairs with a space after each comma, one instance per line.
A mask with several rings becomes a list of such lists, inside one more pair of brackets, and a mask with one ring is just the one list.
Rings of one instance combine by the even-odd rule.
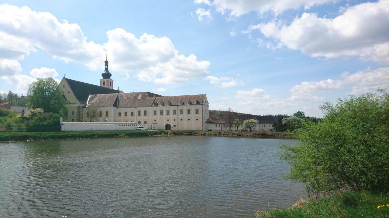
[[210, 109], [322, 117], [389, 88], [389, 0], [0, 0], [0, 92], [36, 78], [206, 93]]

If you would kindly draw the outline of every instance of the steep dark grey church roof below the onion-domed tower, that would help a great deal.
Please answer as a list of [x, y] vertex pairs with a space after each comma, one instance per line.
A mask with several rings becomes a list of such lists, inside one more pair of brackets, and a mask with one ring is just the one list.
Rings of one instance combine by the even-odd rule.
[[68, 78], [65, 78], [65, 80], [72, 89], [75, 97], [79, 100], [79, 102], [84, 104], [86, 104], [89, 95], [119, 93], [119, 90], [105, 88], [89, 83], [83, 83], [77, 80], [70, 80]]

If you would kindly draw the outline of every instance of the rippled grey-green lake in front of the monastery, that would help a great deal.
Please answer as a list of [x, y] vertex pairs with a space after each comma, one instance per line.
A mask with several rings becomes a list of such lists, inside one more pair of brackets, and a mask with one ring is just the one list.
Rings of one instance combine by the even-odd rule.
[[0, 143], [0, 217], [253, 217], [306, 192], [274, 138]]

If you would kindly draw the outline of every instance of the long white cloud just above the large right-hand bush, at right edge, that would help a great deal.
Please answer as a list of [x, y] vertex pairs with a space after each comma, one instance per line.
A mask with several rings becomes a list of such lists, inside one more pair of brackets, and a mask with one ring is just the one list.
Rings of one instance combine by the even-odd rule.
[[302, 82], [294, 85], [290, 92], [291, 97], [287, 100], [300, 100], [318, 102], [323, 101], [323, 97], [315, 94], [338, 90], [346, 85], [352, 85], [351, 94], [363, 94], [374, 92], [377, 88], [389, 88], [389, 67], [378, 68], [373, 71], [366, 69], [354, 74], [342, 73], [341, 80], [322, 80], [319, 82]]

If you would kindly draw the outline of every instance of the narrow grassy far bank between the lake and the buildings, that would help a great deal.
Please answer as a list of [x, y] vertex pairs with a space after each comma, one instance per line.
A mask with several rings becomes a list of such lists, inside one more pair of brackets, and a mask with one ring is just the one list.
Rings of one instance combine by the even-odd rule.
[[0, 142], [33, 141], [80, 138], [117, 138], [145, 137], [160, 135], [219, 135], [259, 138], [293, 138], [289, 133], [272, 132], [229, 132], [229, 131], [189, 131], [189, 130], [156, 130], [156, 131], [70, 131], [70, 132], [0, 132]]

